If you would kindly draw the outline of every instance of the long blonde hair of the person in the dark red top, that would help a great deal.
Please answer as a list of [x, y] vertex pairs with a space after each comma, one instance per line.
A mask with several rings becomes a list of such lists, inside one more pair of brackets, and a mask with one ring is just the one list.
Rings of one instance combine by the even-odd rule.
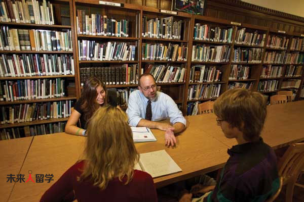
[[124, 182], [128, 184], [139, 155], [127, 115], [112, 106], [101, 107], [89, 120], [87, 134], [87, 161], [78, 180], [91, 181], [102, 190], [115, 177], [120, 181], [126, 177]]

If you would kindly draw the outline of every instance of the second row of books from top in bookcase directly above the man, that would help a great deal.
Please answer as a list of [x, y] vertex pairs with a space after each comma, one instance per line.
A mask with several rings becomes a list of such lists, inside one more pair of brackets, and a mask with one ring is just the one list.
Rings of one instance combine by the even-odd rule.
[[187, 61], [187, 49], [172, 43], [142, 43], [142, 60]]

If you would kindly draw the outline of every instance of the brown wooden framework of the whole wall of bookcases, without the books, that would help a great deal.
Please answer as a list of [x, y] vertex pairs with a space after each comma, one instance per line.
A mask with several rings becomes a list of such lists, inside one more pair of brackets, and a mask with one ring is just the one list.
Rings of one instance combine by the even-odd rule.
[[[54, 6], [54, 17], [56, 19], [55, 25], [41, 25], [41, 24], [29, 24], [29, 23], [15, 23], [15, 22], [0, 22], [1, 26], [8, 26], [12, 28], [20, 28], [20, 29], [45, 29], [45, 30], [71, 30], [72, 32], [72, 52], [56, 52], [56, 51], [0, 51], [0, 54], [12, 55], [12, 54], [67, 54], [69, 56], [73, 56], [74, 58], [74, 69], [75, 75], [56, 75], [56, 76], [26, 76], [26, 77], [0, 77], [0, 81], [6, 80], [22, 80], [22, 79], [45, 79], [45, 78], [62, 78], [68, 80], [69, 82], [74, 82], [75, 87], [73, 90], [74, 95], [70, 95], [68, 97], [63, 98], [53, 98], [53, 99], [39, 99], [39, 100], [18, 100], [16, 102], [0, 102], [1, 106], [4, 105], [12, 105], [12, 104], [24, 104], [24, 103], [33, 103], [33, 102], [53, 102], [57, 100], [68, 100], [68, 99], [78, 99], [81, 93], [81, 75], [80, 69], [85, 67], [112, 67], [112, 66], [122, 66], [127, 64], [138, 65], [138, 76], [144, 72], [144, 68], [149, 64], [155, 65], [166, 65], [170, 66], [179, 66], [184, 67], [186, 69], [185, 81], [184, 82], [175, 82], [175, 83], [157, 83], [157, 85], [161, 86], [161, 89], [164, 89], [164, 92], [168, 93], [172, 98], [174, 98], [175, 102], [182, 105], [182, 112], [186, 115], [187, 112], [187, 104], [194, 102], [205, 102], [208, 100], [215, 100], [216, 97], [207, 98], [207, 99], [192, 99], [187, 100], [188, 88], [189, 86], [204, 84], [204, 85], [217, 85], [221, 84], [220, 94], [225, 90], [229, 89], [229, 85], [233, 82], [240, 83], [251, 83], [253, 82], [254, 91], [258, 90], [259, 82], [268, 81], [268, 80], [278, 80], [278, 89], [273, 91], [262, 91], [263, 94], [274, 94], [279, 90], [287, 89], [296, 91], [295, 100], [300, 98], [300, 91], [304, 84], [304, 71], [301, 76], [285, 76], [288, 66], [304, 66], [303, 64], [288, 64], [288, 62], [284, 62], [284, 64], [280, 63], [267, 63], [264, 61], [266, 52], [285, 52], [285, 54], [294, 53], [294, 54], [303, 54], [304, 51], [291, 49], [291, 40], [293, 38], [304, 38], [303, 26], [299, 25], [296, 21], [290, 21], [290, 25], [283, 26], [280, 20], [275, 20], [272, 18], [264, 17], [264, 14], [259, 16], [257, 22], [251, 20], [251, 18], [243, 18], [239, 20], [238, 15], [242, 14], [227, 14], [226, 11], [217, 12], [216, 9], [218, 5], [224, 3], [212, 3], [209, 2], [208, 7], [206, 8], [208, 11], [205, 15], [191, 15], [188, 13], [174, 11], [176, 13], [163, 13], [161, 9], [169, 9], [171, 4], [168, 6], [164, 6], [161, 2], [134, 2], [129, 1], [128, 3], [116, 1], [115, 3], [121, 4], [119, 7], [113, 5], [101, 5], [99, 0], [56, 0], [51, 1]], [[210, 5], [215, 5], [215, 10], [212, 10]], [[147, 7], [147, 5], [155, 5], [157, 8]], [[69, 15], [65, 13], [61, 13], [61, 8], [68, 7]], [[229, 6], [230, 9], [232, 7]], [[86, 15], [91, 14], [101, 14], [106, 15], [110, 19], [116, 20], [129, 20], [129, 37], [119, 37], [119, 36], [101, 36], [101, 35], [87, 35], [87, 34], [78, 34], [77, 27], [77, 10], [85, 10]], [[233, 10], [233, 9], [232, 9]], [[215, 12], [216, 11], [216, 12]], [[242, 9], [240, 13], [247, 12], [248, 10]], [[238, 13], [238, 12], [237, 12]], [[249, 11], [248, 16], [255, 15], [254, 12]], [[245, 14], [244, 14], [245, 15]], [[247, 15], [247, 14], [246, 14]], [[154, 37], [146, 37], [142, 35], [143, 30], [143, 17], [146, 16], [148, 20], [155, 18], [166, 18], [173, 17], [174, 20], [181, 20], [183, 22], [183, 34], [182, 37], [177, 39], [168, 39], [168, 38], [154, 38]], [[211, 17], [214, 16], [214, 17]], [[217, 18], [215, 18], [217, 17]], [[222, 19], [220, 19], [222, 18]], [[283, 19], [278, 17], [278, 19]], [[229, 20], [228, 20], [229, 19]], [[232, 21], [234, 19], [234, 21]], [[253, 19], [253, 18], [252, 18]], [[255, 18], [256, 19], [256, 18]], [[261, 19], [261, 21], [259, 21]], [[284, 19], [283, 19], [284, 21]], [[245, 24], [246, 22], [248, 24]], [[252, 22], [252, 24], [250, 24]], [[232, 41], [231, 42], [223, 42], [223, 41], [212, 41], [212, 40], [199, 40], [195, 39], [195, 29], [197, 23], [201, 23], [201, 25], [209, 25], [210, 27], [219, 27], [221, 29], [229, 29], [232, 28]], [[268, 25], [268, 27], [259, 26], [259, 25]], [[284, 24], [284, 23], [283, 23]], [[238, 29], [246, 28], [246, 31], [254, 33], [262, 33], [265, 34], [265, 42], [264, 45], [252, 45], [252, 44], [242, 44], [237, 43], [237, 31]], [[284, 28], [284, 29], [283, 29]], [[289, 44], [286, 48], [272, 48], [267, 46], [267, 38], [270, 35], [277, 36], [285, 36], [289, 39]], [[126, 42], [128, 44], [132, 44], [136, 46], [135, 60], [134, 61], [84, 61], [79, 60], [79, 47], [78, 40], [91, 40], [96, 42]], [[159, 60], [142, 60], [142, 44], [143, 43], [163, 43], [163, 44], [178, 44], [184, 45], [187, 47], [187, 60], [186, 61], [159, 61]], [[226, 45], [231, 48], [231, 53], [229, 56], [229, 62], [192, 62], [192, 49], [193, 45], [208, 45], [208, 46], [218, 46], [218, 45]], [[262, 49], [261, 63], [236, 63], [232, 62], [234, 57], [234, 49], [235, 48], [260, 48]], [[206, 67], [215, 66], [217, 70], [221, 71], [221, 80], [217, 82], [191, 82], [189, 83], [191, 77], [191, 68], [195, 65], [205, 65]], [[247, 79], [229, 79], [230, 73], [234, 65], [237, 66], [246, 66], [250, 67], [250, 74]], [[261, 78], [261, 74], [264, 66], [271, 65], [280, 66], [282, 68], [281, 75], [270, 78]], [[294, 88], [282, 88], [282, 82], [289, 79], [299, 79], [301, 80], [300, 86], [298, 89]], [[137, 84], [124, 84], [124, 85], [107, 85], [108, 88], [135, 88]], [[46, 120], [49, 121], [49, 120]], [[31, 122], [31, 125], [36, 124], [35, 122]], [[41, 123], [37, 123], [41, 124]], [[10, 127], [17, 127], [18, 124], [8, 124]]]

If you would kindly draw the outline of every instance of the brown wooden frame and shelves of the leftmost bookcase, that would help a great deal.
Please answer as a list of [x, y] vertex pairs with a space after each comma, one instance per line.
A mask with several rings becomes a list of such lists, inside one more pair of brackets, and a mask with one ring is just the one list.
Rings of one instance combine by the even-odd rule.
[[[48, 1], [47, 1], [48, 2]], [[17, 81], [17, 80], [24, 80], [24, 79], [56, 79], [56, 78], [62, 78], [64, 80], [68, 80], [68, 82], [65, 82], [66, 85], [67, 83], [75, 83], [74, 86], [76, 87], [68, 87], [68, 91], [70, 94], [67, 92], [65, 97], [54, 97], [54, 98], [46, 98], [46, 99], [30, 99], [30, 100], [15, 100], [14, 102], [10, 101], [1, 101], [0, 102], [0, 107], [3, 108], [5, 106], [10, 107], [12, 105], [20, 105], [20, 104], [31, 104], [31, 103], [42, 103], [42, 102], [60, 102], [64, 100], [75, 100], [79, 98], [79, 93], [78, 93], [78, 83], [79, 83], [79, 78], [78, 78], [78, 70], [77, 70], [77, 61], [76, 61], [76, 53], [75, 52], [75, 38], [74, 38], [74, 23], [73, 23], [73, 9], [72, 9], [72, 1], [68, 0], [56, 0], [56, 1], [50, 1], [50, 3], [53, 5], [53, 15], [54, 15], [54, 25], [50, 24], [32, 24], [32, 23], [17, 23], [17, 22], [0, 22], [1, 26], [7, 26], [9, 28], [14, 28], [14, 29], [24, 29], [24, 30], [31, 30], [31, 29], [39, 29], [39, 30], [49, 30], [49, 31], [64, 31], [66, 30], [70, 31], [70, 42], [69, 43], [72, 47], [72, 51], [0, 51], [0, 54], [2, 55], [7, 55], [7, 56], [12, 56], [13, 54], [16, 56], [20, 56], [21, 54], [30, 54], [30, 55], [38, 55], [39, 57], [42, 56], [42, 54], [47, 54], [47, 55], [67, 55], [69, 57], [73, 57], [73, 66], [74, 66], [74, 75], [48, 75], [48, 76], [18, 76], [18, 77], [0, 77], [0, 82], [4, 81]], [[6, 3], [5, 3], [6, 4]], [[48, 3], [47, 3], [48, 4]], [[62, 19], [63, 15], [61, 15], [61, 11], [65, 9], [68, 11], [68, 15], [65, 15], [64, 18]], [[18, 33], [19, 34], [19, 33]], [[21, 38], [19, 37], [19, 42]], [[31, 39], [30, 39], [31, 40]], [[52, 41], [51, 41], [52, 43]], [[21, 45], [21, 43], [20, 43]], [[54, 45], [54, 44], [51, 44]], [[53, 62], [53, 61], [52, 61]], [[36, 63], [36, 62], [35, 62]], [[32, 64], [30, 64], [32, 65]], [[42, 66], [40, 66], [42, 67]], [[36, 69], [36, 67], [34, 68]], [[16, 70], [15, 70], [16, 71]], [[36, 70], [35, 70], [36, 71]], [[44, 70], [45, 71], [45, 70]], [[73, 86], [73, 85], [71, 85]], [[2, 86], [3, 87], [3, 86]], [[66, 86], [64, 86], [66, 87]], [[16, 109], [15, 109], [16, 110]], [[56, 122], [62, 122], [62, 121], [67, 121], [68, 118], [58, 118], [58, 119], [47, 119], [47, 120], [35, 120], [31, 122], [23, 122], [23, 123], [13, 123], [13, 124], [1, 124], [0, 129], [5, 129], [5, 128], [15, 128], [15, 127], [25, 127], [26, 126], [32, 126], [32, 125], [40, 125], [40, 124], [47, 124], [47, 123], [56, 123]], [[28, 128], [29, 129], [29, 128]], [[0, 130], [0, 132], [3, 132]], [[25, 131], [24, 131], [25, 132]], [[26, 133], [26, 132], [25, 132]], [[27, 132], [29, 134], [29, 131]]]

